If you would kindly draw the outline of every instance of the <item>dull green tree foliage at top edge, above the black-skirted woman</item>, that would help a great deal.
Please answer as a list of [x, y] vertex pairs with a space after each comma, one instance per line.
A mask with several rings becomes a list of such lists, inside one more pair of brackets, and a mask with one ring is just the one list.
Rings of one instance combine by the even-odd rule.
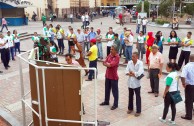
[[172, 0], [164, 0], [159, 5], [159, 14], [164, 17], [169, 17], [171, 15], [170, 7], [173, 5]]

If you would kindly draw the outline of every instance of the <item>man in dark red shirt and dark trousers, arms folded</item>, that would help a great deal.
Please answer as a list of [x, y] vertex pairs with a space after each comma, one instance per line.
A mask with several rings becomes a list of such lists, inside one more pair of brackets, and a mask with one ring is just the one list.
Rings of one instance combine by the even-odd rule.
[[112, 89], [112, 94], [114, 97], [114, 103], [111, 107], [111, 110], [118, 108], [119, 100], [119, 89], [118, 89], [118, 66], [120, 57], [117, 53], [116, 45], [111, 46], [110, 54], [106, 57], [106, 60], [103, 62], [103, 65], [107, 67], [105, 74], [105, 99], [100, 106], [109, 105], [110, 100], [110, 91]]

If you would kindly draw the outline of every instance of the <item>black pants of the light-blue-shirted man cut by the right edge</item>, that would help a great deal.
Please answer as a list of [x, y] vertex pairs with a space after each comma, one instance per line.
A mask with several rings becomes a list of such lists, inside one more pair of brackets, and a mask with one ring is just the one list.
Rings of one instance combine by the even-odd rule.
[[192, 110], [193, 110], [193, 101], [194, 101], [194, 85], [187, 85], [185, 88], [185, 109], [186, 117], [192, 119]]

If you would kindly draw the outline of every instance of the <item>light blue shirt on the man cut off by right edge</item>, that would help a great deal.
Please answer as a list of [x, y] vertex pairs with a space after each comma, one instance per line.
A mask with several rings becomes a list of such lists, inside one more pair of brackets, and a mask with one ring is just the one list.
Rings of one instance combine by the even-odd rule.
[[194, 85], [194, 62], [187, 63], [183, 67], [181, 77], [185, 78], [187, 85]]

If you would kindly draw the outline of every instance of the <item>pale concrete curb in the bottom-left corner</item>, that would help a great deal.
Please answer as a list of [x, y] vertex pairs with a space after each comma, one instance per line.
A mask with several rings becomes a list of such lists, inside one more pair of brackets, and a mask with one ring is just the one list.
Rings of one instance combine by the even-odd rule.
[[3, 109], [0, 108], [0, 116], [3, 117], [11, 126], [22, 126], [19, 121], [17, 121], [11, 114], [5, 112]]

